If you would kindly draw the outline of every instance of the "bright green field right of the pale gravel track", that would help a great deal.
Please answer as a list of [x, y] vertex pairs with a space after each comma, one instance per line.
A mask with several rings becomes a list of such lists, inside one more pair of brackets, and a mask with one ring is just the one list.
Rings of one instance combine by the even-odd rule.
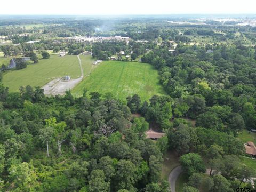
[[157, 70], [139, 62], [103, 61], [73, 89], [73, 94], [82, 95], [84, 88], [101, 94], [110, 92], [122, 100], [135, 93], [140, 95], [142, 101], [154, 94], [164, 94]]

